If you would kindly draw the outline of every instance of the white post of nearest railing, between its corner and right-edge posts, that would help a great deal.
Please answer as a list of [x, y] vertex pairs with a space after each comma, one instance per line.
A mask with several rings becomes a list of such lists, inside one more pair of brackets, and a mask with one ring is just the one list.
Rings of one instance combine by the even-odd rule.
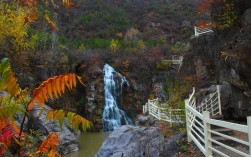
[[211, 138], [211, 133], [209, 130], [211, 130], [211, 126], [209, 123], [207, 123], [207, 119], [210, 119], [210, 115], [208, 111], [203, 112], [203, 124], [204, 124], [204, 138], [205, 138], [205, 155], [206, 157], [212, 156], [212, 149], [209, 147], [212, 147], [212, 142], [209, 140]]

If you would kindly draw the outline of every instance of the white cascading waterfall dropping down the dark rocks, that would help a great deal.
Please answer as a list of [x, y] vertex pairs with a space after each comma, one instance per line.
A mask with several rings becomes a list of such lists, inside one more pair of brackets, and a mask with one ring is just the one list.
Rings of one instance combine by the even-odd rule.
[[[126, 113], [118, 108], [118, 99], [122, 97], [122, 87], [128, 84], [126, 78], [116, 72], [110, 65], [105, 64], [104, 73], [104, 91], [105, 107], [103, 111], [103, 131], [112, 131], [121, 125], [132, 124]], [[120, 102], [122, 102], [120, 100]]]

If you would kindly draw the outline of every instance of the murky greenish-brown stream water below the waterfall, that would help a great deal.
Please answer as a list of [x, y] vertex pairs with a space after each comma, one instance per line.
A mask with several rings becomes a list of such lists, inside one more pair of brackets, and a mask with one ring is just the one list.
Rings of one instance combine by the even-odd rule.
[[80, 148], [64, 157], [95, 157], [103, 141], [109, 136], [110, 132], [86, 132], [77, 137]]

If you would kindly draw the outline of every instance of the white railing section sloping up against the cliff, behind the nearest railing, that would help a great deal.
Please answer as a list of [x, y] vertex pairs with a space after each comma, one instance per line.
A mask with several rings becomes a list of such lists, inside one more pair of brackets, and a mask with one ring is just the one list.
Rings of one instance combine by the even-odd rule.
[[200, 106], [196, 107], [197, 111], [202, 113], [203, 111], [209, 111], [210, 115], [222, 115], [221, 113], [221, 101], [220, 101], [220, 86], [216, 86], [216, 91], [210, 93], [206, 99], [201, 102]]

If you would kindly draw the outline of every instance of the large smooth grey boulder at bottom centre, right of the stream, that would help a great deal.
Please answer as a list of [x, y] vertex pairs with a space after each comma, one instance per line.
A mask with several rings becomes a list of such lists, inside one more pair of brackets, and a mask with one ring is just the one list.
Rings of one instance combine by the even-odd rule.
[[167, 139], [156, 127], [124, 125], [110, 134], [96, 157], [174, 157], [182, 137]]

